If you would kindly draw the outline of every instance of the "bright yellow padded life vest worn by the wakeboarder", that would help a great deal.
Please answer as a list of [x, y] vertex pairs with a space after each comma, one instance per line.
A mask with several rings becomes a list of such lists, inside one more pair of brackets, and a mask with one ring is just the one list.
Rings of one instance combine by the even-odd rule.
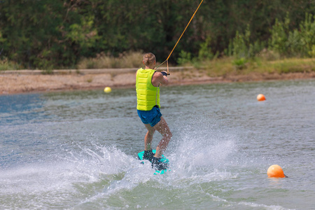
[[160, 108], [160, 88], [152, 85], [153, 69], [138, 69], [136, 78], [137, 109], [149, 111], [153, 106]]

